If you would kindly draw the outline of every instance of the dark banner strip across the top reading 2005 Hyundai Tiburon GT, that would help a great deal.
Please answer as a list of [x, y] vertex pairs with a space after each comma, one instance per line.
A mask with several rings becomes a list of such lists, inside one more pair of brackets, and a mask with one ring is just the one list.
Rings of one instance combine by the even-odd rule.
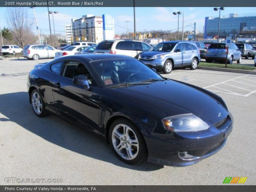
[[0, 7], [244, 7], [255, 0], [1, 0]]

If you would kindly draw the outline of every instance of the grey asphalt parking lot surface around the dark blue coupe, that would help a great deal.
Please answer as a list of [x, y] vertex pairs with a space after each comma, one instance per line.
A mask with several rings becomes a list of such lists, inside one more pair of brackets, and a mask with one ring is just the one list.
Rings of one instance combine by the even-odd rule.
[[217, 154], [191, 166], [127, 165], [94, 134], [57, 116], [33, 113], [27, 75], [35, 64], [49, 61], [0, 60], [0, 185], [13, 184], [6, 177], [62, 179], [50, 185], [222, 185], [226, 177], [248, 177], [245, 184], [255, 185], [255, 75], [200, 69], [163, 75], [220, 95], [234, 117], [233, 132]]

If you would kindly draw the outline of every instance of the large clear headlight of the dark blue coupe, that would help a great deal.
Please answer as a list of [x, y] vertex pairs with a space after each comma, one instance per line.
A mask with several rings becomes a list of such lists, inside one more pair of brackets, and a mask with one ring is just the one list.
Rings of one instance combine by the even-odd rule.
[[162, 123], [166, 130], [172, 132], [193, 132], [209, 128], [208, 124], [191, 113], [166, 117]]

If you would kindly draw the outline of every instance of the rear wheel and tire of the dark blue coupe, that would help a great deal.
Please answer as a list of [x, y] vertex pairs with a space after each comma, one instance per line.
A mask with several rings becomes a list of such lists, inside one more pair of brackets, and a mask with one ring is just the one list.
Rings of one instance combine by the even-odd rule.
[[48, 115], [48, 112], [45, 109], [44, 100], [39, 91], [34, 89], [31, 92], [30, 101], [32, 105], [32, 109], [36, 116], [44, 117]]

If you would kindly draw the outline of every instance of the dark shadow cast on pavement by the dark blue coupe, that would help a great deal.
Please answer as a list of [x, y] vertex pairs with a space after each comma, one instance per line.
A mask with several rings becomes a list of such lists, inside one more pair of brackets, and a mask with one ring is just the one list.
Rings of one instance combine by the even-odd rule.
[[74, 153], [138, 171], [154, 171], [163, 168], [162, 165], [148, 162], [136, 165], [125, 164], [115, 156], [111, 146], [94, 133], [55, 115], [44, 118], [37, 117], [29, 103], [28, 92], [2, 94], [0, 95], [0, 106], [0, 113], [7, 117], [0, 118], [1, 123], [12, 121], [44, 140]]

